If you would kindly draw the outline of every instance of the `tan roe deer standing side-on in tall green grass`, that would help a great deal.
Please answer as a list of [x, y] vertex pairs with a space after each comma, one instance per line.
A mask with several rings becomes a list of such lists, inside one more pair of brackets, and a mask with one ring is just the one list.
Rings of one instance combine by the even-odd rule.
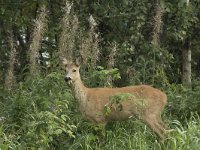
[[[87, 119], [106, 124], [109, 121], [126, 120], [133, 115], [141, 118], [161, 139], [166, 126], [161, 112], [167, 103], [165, 93], [148, 85], [122, 88], [87, 88], [80, 78], [80, 61], [63, 61], [65, 80], [71, 82], [72, 90], [79, 104], [79, 111]], [[119, 99], [122, 95], [121, 100]], [[108, 113], [105, 113], [105, 110]]]

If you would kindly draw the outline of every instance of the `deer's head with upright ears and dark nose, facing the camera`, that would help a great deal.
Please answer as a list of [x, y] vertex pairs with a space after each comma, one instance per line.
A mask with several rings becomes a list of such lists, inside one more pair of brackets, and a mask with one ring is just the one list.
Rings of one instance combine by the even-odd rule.
[[80, 64], [81, 64], [80, 59], [77, 59], [76, 63], [73, 63], [72, 61], [68, 61], [64, 59], [63, 64], [66, 71], [66, 75], [64, 78], [66, 82], [74, 82], [77, 79], [80, 79], [80, 74], [79, 74], [79, 69], [80, 69]]

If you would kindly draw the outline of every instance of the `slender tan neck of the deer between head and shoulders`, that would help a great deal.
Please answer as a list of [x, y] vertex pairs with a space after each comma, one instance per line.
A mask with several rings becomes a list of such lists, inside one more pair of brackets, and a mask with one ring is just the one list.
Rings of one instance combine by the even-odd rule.
[[81, 79], [77, 79], [72, 83], [73, 92], [75, 98], [78, 100], [79, 104], [83, 104], [86, 102], [87, 88], [84, 86]]

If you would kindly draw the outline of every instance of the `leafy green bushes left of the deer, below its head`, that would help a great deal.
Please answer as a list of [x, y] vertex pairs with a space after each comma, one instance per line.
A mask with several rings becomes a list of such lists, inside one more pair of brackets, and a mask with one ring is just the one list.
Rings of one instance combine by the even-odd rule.
[[12, 149], [49, 149], [66, 137], [75, 138], [69, 108], [73, 97], [61, 74], [27, 79], [7, 94], [1, 101], [1, 143], [16, 145]]

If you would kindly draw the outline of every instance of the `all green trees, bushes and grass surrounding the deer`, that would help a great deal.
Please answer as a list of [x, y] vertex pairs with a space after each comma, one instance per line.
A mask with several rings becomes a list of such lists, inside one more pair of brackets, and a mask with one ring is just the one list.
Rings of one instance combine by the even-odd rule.
[[[1, 1], [0, 149], [198, 150], [199, 10], [199, 0]], [[159, 142], [136, 118], [106, 130], [85, 120], [61, 63], [78, 56], [88, 87], [164, 91], [171, 136]]]

